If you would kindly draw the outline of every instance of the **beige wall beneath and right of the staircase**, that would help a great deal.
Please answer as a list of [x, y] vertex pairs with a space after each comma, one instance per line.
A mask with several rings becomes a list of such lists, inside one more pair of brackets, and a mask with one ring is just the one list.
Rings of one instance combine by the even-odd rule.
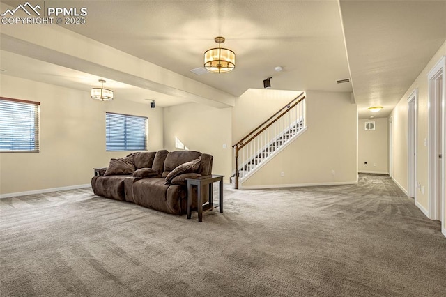
[[357, 182], [357, 109], [351, 94], [307, 91], [307, 128], [243, 187]]

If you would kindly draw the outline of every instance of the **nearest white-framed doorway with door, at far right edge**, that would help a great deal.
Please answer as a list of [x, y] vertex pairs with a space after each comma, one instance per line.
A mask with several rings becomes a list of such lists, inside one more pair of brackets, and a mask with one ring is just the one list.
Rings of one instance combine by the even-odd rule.
[[445, 56], [428, 74], [429, 82], [429, 218], [445, 227]]

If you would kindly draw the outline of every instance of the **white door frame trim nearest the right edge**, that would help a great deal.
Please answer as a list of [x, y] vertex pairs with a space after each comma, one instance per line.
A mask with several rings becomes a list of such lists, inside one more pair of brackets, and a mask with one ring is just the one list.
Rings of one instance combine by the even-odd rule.
[[[443, 77], [443, 87], [439, 94], [440, 100], [437, 100], [436, 88], [438, 88], [438, 79]], [[428, 169], [428, 179], [429, 179], [429, 218], [431, 220], [439, 220], [438, 218], [438, 208], [441, 208], [440, 216], [442, 220], [442, 232], [446, 236], [446, 222], [445, 222], [445, 178], [441, 181], [441, 185], [438, 184], [438, 153], [442, 154], [443, 162], [441, 162], [441, 169], [443, 175], [445, 175], [445, 92], [446, 92], [446, 56], [443, 56], [440, 61], [436, 63], [435, 66], [429, 71], [427, 75], [428, 79], [428, 97], [429, 97], [429, 121], [428, 121], [428, 131], [429, 131], [429, 169]], [[440, 102], [438, 102], [440, 101]], [[439, 104], [440, 103], [440, 104]], [[441, 119], [438, 119], [438, 109], [441, 108]], [[441, 149], [438, 151], [438, 123], [443, 125], [443, 143], [441, 144]], [[436, 198], [438, 193], [441, 193], [443, 197], [440, 201], [440, 205], [437, 205], [438, 199]], [[443, 204], [443, 205], [442, 205]]]

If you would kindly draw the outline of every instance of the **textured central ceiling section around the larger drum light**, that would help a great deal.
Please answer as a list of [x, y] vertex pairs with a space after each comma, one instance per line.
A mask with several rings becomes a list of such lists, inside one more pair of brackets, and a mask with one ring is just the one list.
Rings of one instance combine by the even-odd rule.
[[[76, 1], [88, 22], [68, 29], [235, 96], [261, 88], [351, 91], [337, 1]], [[195, 75], [224, 36], [236, 70]], [[275, 73], [282, 66], [283, 73]]]

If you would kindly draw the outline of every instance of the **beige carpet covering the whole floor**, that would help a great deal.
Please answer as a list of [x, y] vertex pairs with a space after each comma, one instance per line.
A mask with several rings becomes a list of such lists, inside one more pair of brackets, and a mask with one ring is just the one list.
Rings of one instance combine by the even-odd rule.
[[0, 199], [1, 296], [446, 296], [446, 238], [388, 177], [224, 190], [203, 222], [93, 195]]

